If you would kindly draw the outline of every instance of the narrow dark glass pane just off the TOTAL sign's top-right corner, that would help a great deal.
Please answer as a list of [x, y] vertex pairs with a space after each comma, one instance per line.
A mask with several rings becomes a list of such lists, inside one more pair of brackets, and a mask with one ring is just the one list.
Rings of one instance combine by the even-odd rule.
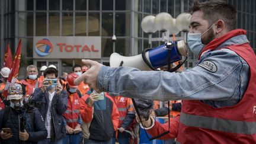
[[113, 36], [113, 13], [102, 13], [101, 36]]

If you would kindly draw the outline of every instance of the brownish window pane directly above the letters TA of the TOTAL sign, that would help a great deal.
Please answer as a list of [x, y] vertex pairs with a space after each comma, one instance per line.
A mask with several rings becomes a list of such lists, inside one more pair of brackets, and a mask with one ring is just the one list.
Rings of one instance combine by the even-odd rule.
[[87, 14], [84, 12], [76, 13], [75, 36], [87, 36]]

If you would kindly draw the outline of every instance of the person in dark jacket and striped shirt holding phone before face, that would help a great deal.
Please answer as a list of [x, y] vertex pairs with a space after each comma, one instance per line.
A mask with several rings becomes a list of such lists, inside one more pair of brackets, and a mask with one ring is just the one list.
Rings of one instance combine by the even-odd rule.
[[68, 94], [63, 90], [62, 85], [57, 82], [57, 70], [47, 68], [44, 71], [43, 87], [36, 88], [31, 100], [41, 101], [39, 108], [43, 116], [48, 135], [47, 139], [39, 143], [62, 143], [66, 135], [63, 114], [67, 110]]

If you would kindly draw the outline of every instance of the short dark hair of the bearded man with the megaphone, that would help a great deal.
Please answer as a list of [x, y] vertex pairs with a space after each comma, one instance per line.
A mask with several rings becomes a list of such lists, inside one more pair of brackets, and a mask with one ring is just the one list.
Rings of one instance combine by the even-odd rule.
[[212, 0], [199, 2], [198, 0], [194, 0], [190, 12], [193, 14], [195, 11], [202, 11], [203, 17], [209, 22], [209, 25], [213, 25], [217, 20], [223, 20], [229, 31], [235, 30], [236, 28], [236, 8], [226, 1]]

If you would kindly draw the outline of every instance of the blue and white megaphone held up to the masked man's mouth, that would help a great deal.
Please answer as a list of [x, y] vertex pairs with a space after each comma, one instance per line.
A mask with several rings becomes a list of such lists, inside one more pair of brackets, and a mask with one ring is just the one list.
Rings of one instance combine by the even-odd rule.
[[184, 40], [172, 41], [154, 49], [148, 49], [148, 52], [145, 51], [143, 55], [136, 56], [121, 56], [118, 53], [112, 53], [110, 56], [110, 66], [119, 67], [122, 64], [121, 66], [129, 66], [141, 71], [151, 71], [152, 67], [156, 69], [168, 65], [169, 54], [171, 54], [171, 63], [181, 60], [182, 56], [187, 57], [187, 44]]

